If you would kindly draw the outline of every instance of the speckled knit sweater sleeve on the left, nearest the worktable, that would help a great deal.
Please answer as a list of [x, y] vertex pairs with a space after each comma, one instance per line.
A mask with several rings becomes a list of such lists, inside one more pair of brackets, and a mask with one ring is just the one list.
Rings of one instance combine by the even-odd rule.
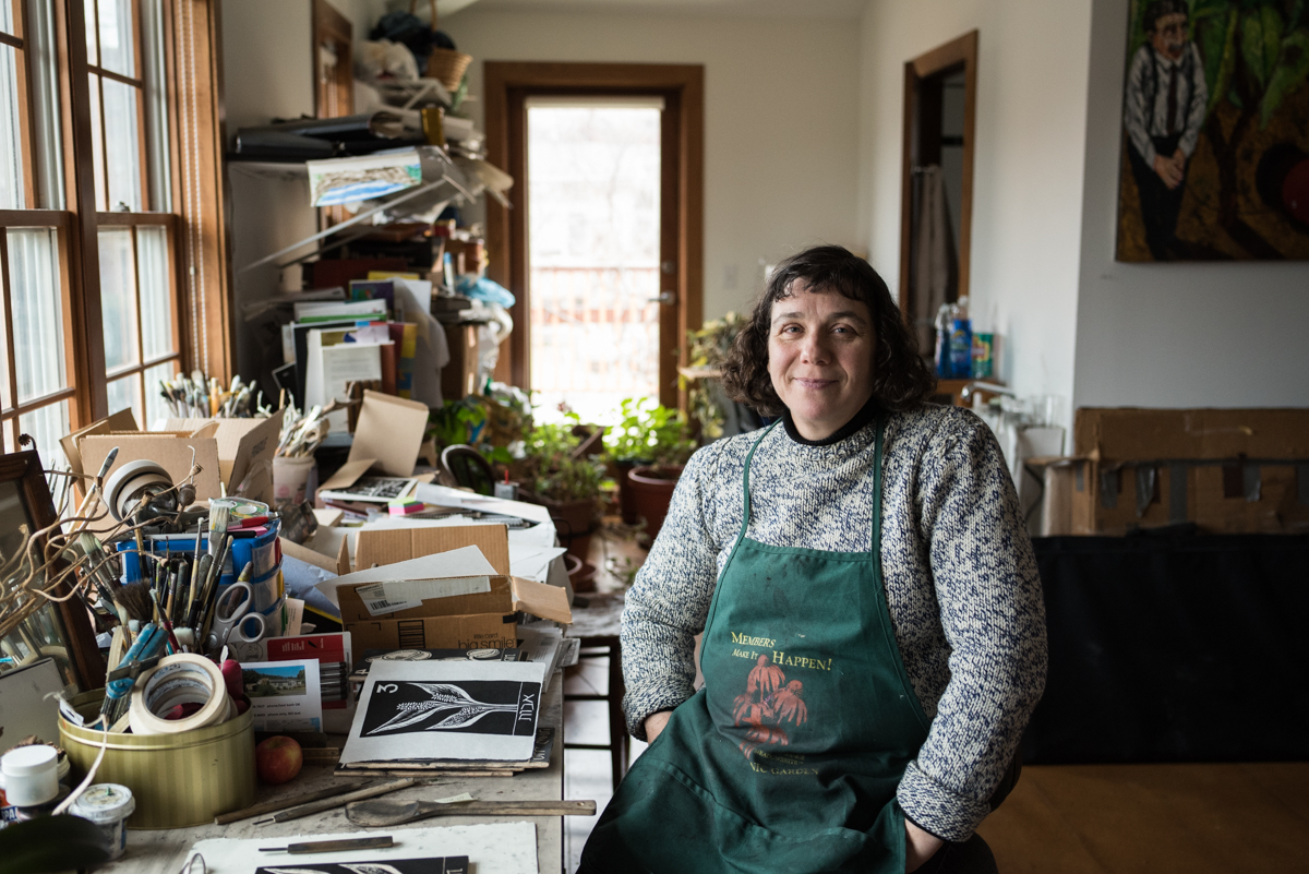
[[704, 495], [719, 451], [709, 445], [691, 457], [664, 527], [627, 593], [623, 712], [628, 731], [640, 741], [645, 717], [695, 693], [695, 635], [704, 631], [717, 581], [719, 544], [704, 518]]

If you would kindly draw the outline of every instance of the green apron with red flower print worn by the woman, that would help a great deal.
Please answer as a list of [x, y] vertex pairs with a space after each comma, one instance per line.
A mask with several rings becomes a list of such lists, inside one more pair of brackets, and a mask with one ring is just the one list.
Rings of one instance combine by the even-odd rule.
[[882, 423], [868, 552], [745, 536], [762, 440], [704, 628], [704, 687], [632, 764], [581, 871], [905, 871], [895, 788], [928, 720], [882, 590]]

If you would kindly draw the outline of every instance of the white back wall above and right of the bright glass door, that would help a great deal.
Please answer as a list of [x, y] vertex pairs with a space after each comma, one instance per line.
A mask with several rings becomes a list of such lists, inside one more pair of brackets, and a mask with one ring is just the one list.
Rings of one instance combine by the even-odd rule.
[[[856, 22], [470, 7], [441, 27], [476, 59], [473, 94], [484, 60], [704, 64], [704, 318], [747, 305], [759, 259], [863, 247]], [[480, 124], [482, 105], [470, 111]]]

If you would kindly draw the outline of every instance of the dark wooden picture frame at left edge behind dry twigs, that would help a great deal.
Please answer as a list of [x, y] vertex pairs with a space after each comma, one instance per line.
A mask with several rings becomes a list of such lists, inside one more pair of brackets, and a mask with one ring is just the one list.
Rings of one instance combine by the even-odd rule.
[[[22, 550], [25, 530], [39, 531], [55, 522], [54, 498], [37, 453], [0, 455], [0, 567]], [[38, 540], [37, 555], [43, 557], [45, 552], [45, 539]], [[58, 573], [64, 567], [60, 561], [54, 569]], [[41, 598], [16, 594], [14, 584], [26, 573], [26, 567], [20, 567], [0, 580], [0, 597], [5, 602], [5, 612], [0, 618], [25, 598]], [[52, 594], [65, 595], [68, 590], [68, 584], [63, 582]], [[65, 687], [88, 691], [105, 684], [105, 659], [81, 599], [47, 602], [0, 637], [0, 671], [41, 658], [54, 658]]]

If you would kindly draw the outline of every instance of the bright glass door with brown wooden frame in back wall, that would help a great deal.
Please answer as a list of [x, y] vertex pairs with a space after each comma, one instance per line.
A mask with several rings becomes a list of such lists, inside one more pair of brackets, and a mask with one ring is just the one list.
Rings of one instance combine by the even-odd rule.
[[685, 406], [703, 67], [487, 61], [484, 76], [488, 160], [514, 178], [509, 208], [487, 204], [488, 275], [517, 298], [496, 378], [592, 420], [627, 396]]

